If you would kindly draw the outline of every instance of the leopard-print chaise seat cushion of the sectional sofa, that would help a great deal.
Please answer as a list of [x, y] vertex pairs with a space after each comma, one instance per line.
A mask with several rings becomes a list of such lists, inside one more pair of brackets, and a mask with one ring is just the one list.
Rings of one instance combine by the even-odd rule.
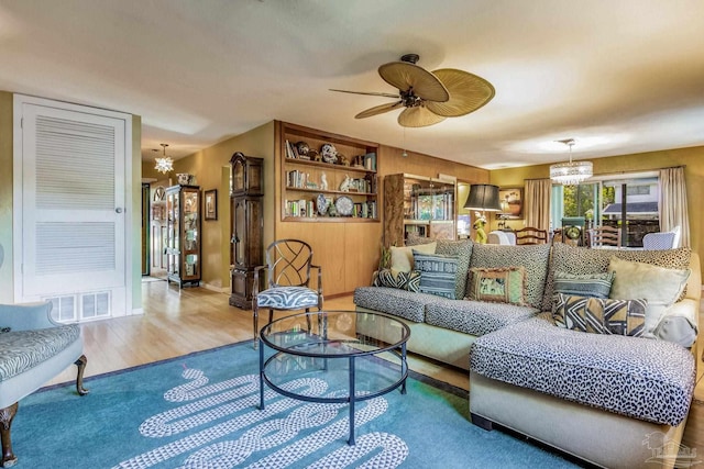
[[490, 379], [666, 425], [686, 417], [696, 378], [692, 353], [676, 344], [585, 334], [543, 317], [477, 338], [470, 368]]

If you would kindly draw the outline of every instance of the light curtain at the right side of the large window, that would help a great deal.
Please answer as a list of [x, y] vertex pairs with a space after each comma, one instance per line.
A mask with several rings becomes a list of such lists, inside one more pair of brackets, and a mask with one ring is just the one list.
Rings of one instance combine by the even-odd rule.
[[660, 169], [660, 197], [658, 200], [660, 231], [680, 227], [680, 245], [690, 247], [690, 217], [686, 213], [686, 183], [684, 167]]

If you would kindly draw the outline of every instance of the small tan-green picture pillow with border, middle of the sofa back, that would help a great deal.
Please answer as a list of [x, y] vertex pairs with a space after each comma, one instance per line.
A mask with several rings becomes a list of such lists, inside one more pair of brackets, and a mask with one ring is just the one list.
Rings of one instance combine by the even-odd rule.
[[470, 300], [525, 305], [526, 269], [522, 266], [470, 269]]

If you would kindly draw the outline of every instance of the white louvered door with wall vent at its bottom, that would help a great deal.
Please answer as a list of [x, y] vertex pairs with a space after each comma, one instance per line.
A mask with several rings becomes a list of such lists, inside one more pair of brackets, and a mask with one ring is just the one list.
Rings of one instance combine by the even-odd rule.
[[[123, 315], [131, 123], [92, 108], [19, 101], [15, 129], [20, 113], [21, 141], [15, 144], [21, 143], [21, 150], [15, 150], [14, 174], [14, 193], [20, 196], [14, 213], [21, 221], [14, 231], [20, 234], [14, 243], [15, 253], [20, 248], [19, 300], [52, 300], [56, 317], [67, 321]], [[57, 306], [68, 311], [57, 312]]]

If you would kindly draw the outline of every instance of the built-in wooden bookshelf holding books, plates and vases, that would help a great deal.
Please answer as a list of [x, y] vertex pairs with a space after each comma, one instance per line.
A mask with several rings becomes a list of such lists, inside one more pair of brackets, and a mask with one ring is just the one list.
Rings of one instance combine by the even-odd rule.
[[282, 123], [282, 221], [378, 222], [378, 145]]

